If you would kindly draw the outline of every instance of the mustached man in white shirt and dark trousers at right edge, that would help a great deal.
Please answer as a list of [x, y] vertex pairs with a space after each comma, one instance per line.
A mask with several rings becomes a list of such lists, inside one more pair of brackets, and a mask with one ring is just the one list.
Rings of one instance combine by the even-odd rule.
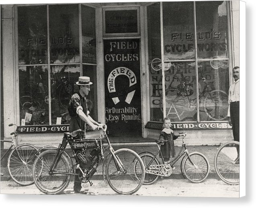
[[[233, 137], [235, 141], [239, 139], [239, 67], [233, 68], [233, 78], [235, 82], [229, 87], [227, 112], [228, 123], [232, 125]], [[239, 153], [239, 149], [238, 149]]]

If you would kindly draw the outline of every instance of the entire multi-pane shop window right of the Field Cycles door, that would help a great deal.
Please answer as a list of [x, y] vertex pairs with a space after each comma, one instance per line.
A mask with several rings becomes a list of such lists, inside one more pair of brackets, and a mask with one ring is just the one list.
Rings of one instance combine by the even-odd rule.
[[[158, 20], [160, 7], [157, 4], [147, 6], [150, 120], [161, 121], [164, 113], [173, 122], [226, 120], [229, 88], [227, 2], [162, 4], [163, 22], [152, 20]], [[164, 57], [160, 48], [160, 24], [163, 24]], [[156, 36], [158, 42], [154, 40]], [[166, 109], [163, 109], [163, 97]]]

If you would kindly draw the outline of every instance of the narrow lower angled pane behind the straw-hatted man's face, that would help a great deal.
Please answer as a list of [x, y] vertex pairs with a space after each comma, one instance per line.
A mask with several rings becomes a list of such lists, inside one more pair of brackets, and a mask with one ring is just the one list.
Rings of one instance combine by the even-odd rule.
[[95, 121], [98, 120], [98, 101], [97, 101], [97, 74], [96, 74], [96, 66], [92, 65], [83, 65], [83, 76], [90, 77], [90, 81], [92, 85], [90, 85], [89, 95], [86, 97], [87, 99], [87, 107], [90, 112], [90, 116]]

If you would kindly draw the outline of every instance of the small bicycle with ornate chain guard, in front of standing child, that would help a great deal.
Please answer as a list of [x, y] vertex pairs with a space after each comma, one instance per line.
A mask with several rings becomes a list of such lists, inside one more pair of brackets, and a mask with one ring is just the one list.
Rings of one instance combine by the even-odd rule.
[[[160, 141], [155, 139], [155, 142], [158, 146], [158, 151], [154, 154], [149, 151], [139, 153], [139, 156], [141, 157], [145, 166], [145, 180], [143, 184], [153, 184], [154, 182], [156, 182], [156, 180], [158, 180], [159, 176], [170, 176], [172, 174], [172, 165], [175, 164], [183, 155], [184, 157], [182, 158], [180, 163], [180, 170], [184, 178], [193, 183], [203, 182], [207, 178], [209, 174], [209, 162], [205, 155], [199, 152], [188, 153], [188, 149], [184, 141], [186, 133], [179, 132], [178, 136], [182, 137], [182, 146], [180, 147], [178, 155], [170, 162], [164, 162], [164, 158], [160, 150], [160, 145], [168, 142], [167, 140]], [[183, 148], [184, 151], [182, 151]], [[157, 159], [158, 155], [160, 155], [162, 164], [160, 164]]]

